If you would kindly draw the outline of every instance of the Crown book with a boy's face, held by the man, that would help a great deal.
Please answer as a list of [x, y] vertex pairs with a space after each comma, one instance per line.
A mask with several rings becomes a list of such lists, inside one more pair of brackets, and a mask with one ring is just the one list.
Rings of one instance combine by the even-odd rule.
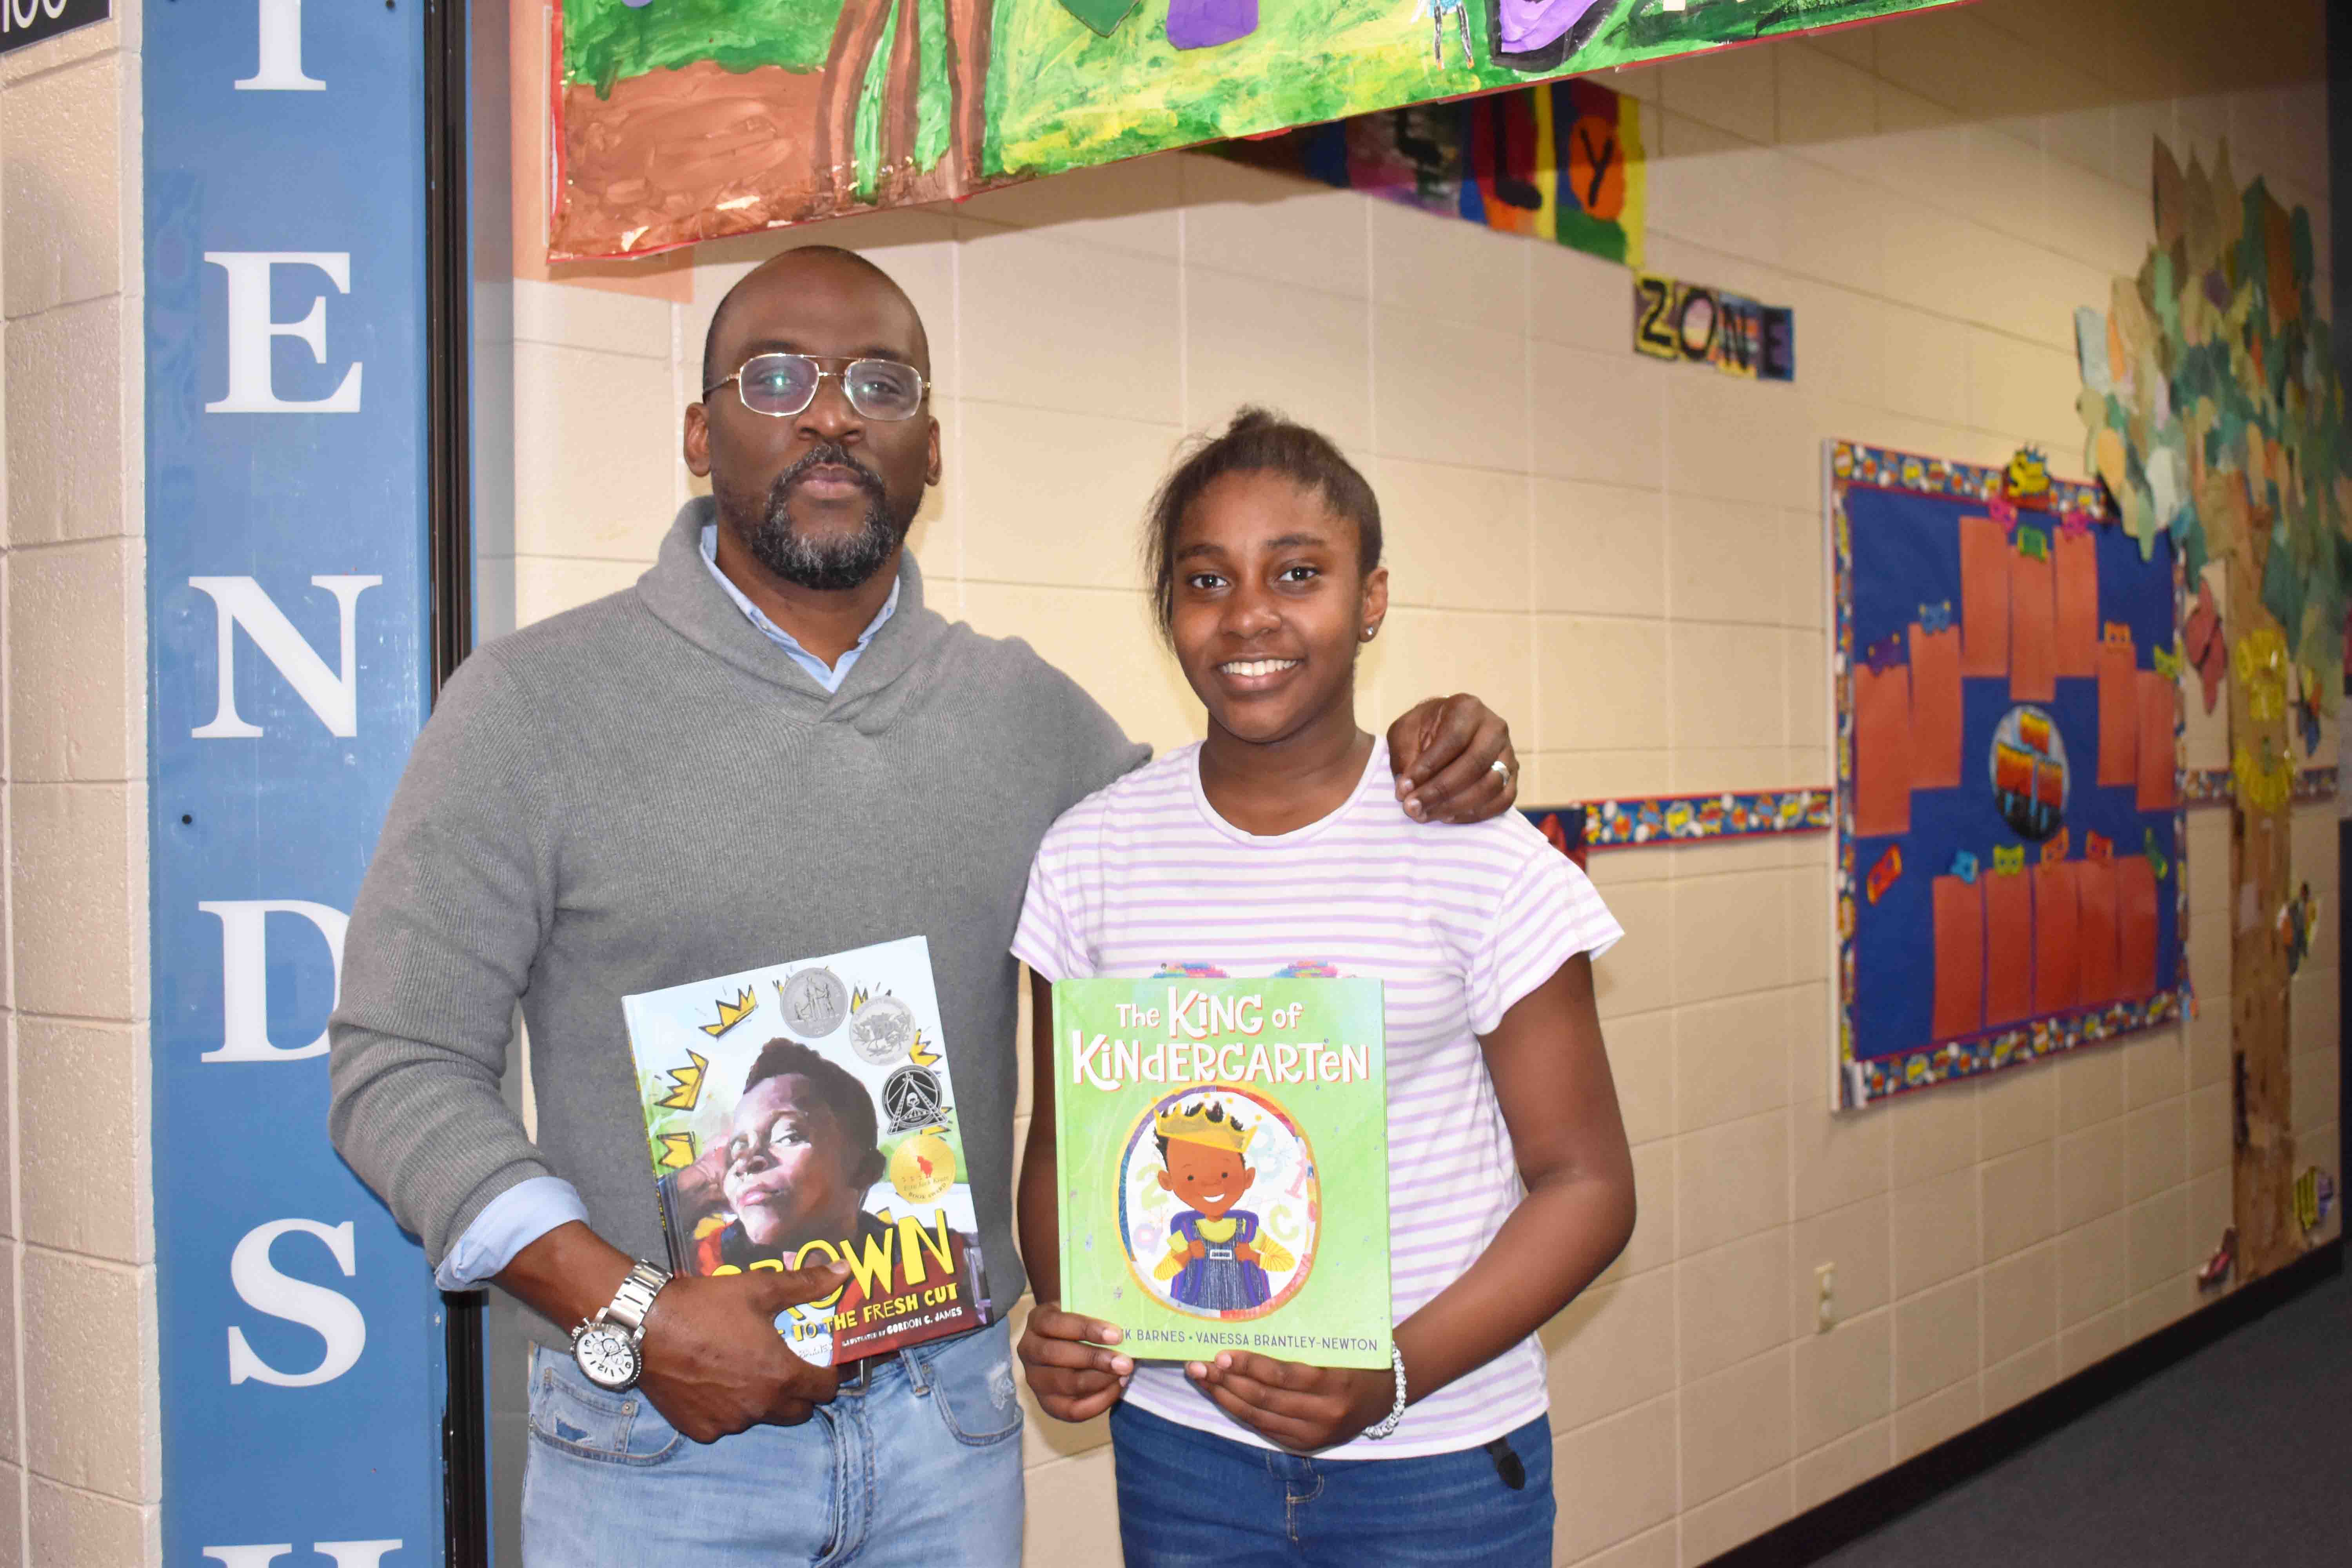
[[847, 1262], [776, 1331], [830, 1366], [988, 1321], [920, 936], [623, 997], [670, 1267]]

